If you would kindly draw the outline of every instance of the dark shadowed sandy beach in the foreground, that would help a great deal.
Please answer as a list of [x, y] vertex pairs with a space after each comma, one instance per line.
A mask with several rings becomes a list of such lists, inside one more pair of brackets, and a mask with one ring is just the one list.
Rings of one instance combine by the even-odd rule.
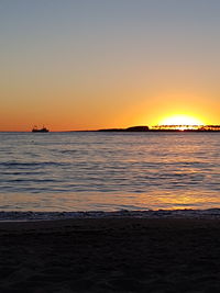
[[220, 219], [0, 223], [0, 292], [220, 292]]

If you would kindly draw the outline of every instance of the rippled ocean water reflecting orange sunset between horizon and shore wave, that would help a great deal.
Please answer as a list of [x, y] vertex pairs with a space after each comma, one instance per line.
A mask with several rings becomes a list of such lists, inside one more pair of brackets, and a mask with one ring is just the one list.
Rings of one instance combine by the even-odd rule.
[[220, 207], [219, 133], [0, 133], [0, 211]]

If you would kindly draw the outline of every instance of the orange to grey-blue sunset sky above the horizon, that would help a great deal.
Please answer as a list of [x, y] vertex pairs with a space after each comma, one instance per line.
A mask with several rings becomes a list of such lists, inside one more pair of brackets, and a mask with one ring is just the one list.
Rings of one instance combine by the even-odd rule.
[[219, 0], [0, 0], [0, 131], [220, 124]]

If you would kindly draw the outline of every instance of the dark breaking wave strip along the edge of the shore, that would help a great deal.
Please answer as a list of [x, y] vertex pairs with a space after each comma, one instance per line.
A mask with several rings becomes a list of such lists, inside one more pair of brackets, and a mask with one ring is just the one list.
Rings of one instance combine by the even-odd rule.
[[54, 221], [68, 218], [220, 218], [220, 209], [118, 212], [0, 212], [0, 222]]

